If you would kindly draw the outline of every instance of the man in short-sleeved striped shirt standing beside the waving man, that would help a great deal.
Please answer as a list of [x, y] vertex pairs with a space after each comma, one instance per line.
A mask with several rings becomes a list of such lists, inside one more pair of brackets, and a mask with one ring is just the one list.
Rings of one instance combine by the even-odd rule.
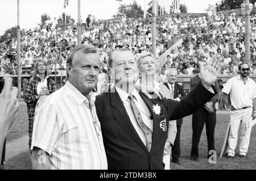
[[100, 57], [92, 45], [79, 45], [67, 59], [68, 81], [35, 113], [33, 169], [108, 169], [94, 106]]

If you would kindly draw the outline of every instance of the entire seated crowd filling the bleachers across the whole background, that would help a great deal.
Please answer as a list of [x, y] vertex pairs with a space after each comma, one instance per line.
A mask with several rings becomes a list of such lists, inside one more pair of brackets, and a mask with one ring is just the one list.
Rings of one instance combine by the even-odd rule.
[[[87, 21], [87, 20], [86, 20]], [[156, 57], [183, 37], [182, 47], [173, 49], [162, 68], [176, 68], [179, 74], [193, 74], [198, 58], [205, 58], [221, 75], [237, 74], [237, 66], [245, 60], [245, 17], [230, 11], [211, 16], [170, 16], [156, 20]], [[98, 48], [102, 68], [108, 68], [113, 50], [130, 49], [136, 57], [143, 51], [151, 52], [151, 20], [130, 19], [96, 22], [82, 26], [82, 44]], [[256, 15], [251, 16], [251, 74], [256, 73]], [[1, 74], [16, 73], [16, 39], [0, 44]], [[31, 72], [36, 60], [47, 62], [50, 73], [65, 69], [70, 49], [77, 44], [77, 27], [60, 26], [57, 20], [47, 20], [34, 30], [22, 31], [21, 59], [23, 74]]]

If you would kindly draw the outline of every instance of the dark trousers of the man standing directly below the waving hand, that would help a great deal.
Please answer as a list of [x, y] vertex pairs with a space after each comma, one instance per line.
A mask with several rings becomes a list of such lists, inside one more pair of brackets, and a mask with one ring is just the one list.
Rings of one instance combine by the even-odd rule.
[[[191, 157], [198, 158], [199, 150], [198, 145], [201, 133], [204, 129], [204, 123], [207, 133], [208, 153], [209, 150], [215, 150], [214, 147], [214, 129], [216, 125], [216, 110], [213, 113], [208, 113], [204, 108], [200, 108], [192, 116], [192, 148]], [[208, 154], [207, 153], [207, 154]], [[209, 154], [208, 154], [209, 157]]]

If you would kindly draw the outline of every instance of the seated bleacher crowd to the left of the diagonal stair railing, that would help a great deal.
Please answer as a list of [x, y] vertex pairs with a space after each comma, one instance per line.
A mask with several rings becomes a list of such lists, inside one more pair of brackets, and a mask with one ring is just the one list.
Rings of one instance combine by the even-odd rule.
[[[179, 18], [158, 19], [156, 27], [158, 56], [170, 47], [171, 40], [175, 36], [180, 36], [177, 26], [179, 20]], [[104, 69], [107, 68], [108, 58], [114, 49], [127, 48], [133, 50], [136, 56], [143, 51], [150, 52], [151, 37], [151, 22], [146, 19], [122, 18], [109, 22], [92, 20], [82, 26], [82, 44], [96, 45]], [[16, 44], [16, 39], [8, 39], [0, 45], [2, 74], [15, 74]], [[44, 59], [50, 73], [55, 73], [55, 70], [65, 69], [67, 54], [77, 44], [77, 27], [59, 26], [56, 19], [52, 22], [47, 20], [43, 26], [38, 26], [34, 30], [22, 31], [20, 44], [20, 62], [24, 70], [30, 70], [36, 60]], [[13, 54], [13, 58], [7, 57], [10, 54]]]

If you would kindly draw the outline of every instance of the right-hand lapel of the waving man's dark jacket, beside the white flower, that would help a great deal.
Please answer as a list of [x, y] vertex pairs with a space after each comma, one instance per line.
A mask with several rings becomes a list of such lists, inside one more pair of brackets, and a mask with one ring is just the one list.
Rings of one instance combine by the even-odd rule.
[[[151, 150], [150, 150], [150, 154], [154, 153], [154, 150], [158, 150], [158, 145], [159, 145], [159, 140], [162, 139], [162, 129], [160, 129], [160, 115], [156, 114], [152, 108], [153, 105], [156, 105], [157, 103], [154, 101], [154, 99], [148, 99], [146, 98], [146, 96], [144, 96], [141, 92], [139, 93], [142, 97], [142, 99], [144, 100], [144, 102], [146, 103], [148, 110], [150, 110], [151, 115], [153, 117], [153, 134], [152, 134], [152, 146], [151, 146]], [[154, 103], [155, 102], [155, 103]], [[159, 106], [162, 106], [162, 104], [158, 104]], [[161, 107], [162, 108], [162, 107]], [[163, 112], [163, 110], [161, 109], [161, 112]], [[166, 120], [166, 122], [168, 123], [168, 120]]]

